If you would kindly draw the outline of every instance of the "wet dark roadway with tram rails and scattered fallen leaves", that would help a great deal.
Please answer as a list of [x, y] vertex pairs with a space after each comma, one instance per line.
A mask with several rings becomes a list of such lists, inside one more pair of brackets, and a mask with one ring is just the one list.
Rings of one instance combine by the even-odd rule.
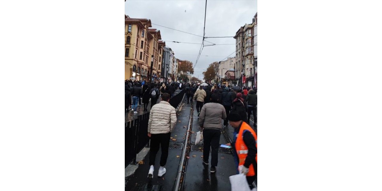
[[[194, 108], [195, 108], [194, 104]], [[176, 187], [176, 177], [178, 175], [179, 165], [181, 162], [183, 146], [185, 144], [185, 134], [188, 129], [190, 119], [191, 104], [187, 104], [186, 100], [183, 100], [183, 104], [177, 113], [178, 121], [176, 127], [171, 134], [170, 148], [165, 166], [166, 173], [162, 177], [158, 177], [159, 160], [161, 151], [157, 153], [155, 159], [154, 177], [152, 180], [147, 178], [149, 171], [149, 154], [143, 160], [143, 163], [139, 165], [133, 175], [127, 177], [127, 186], [125, 190], [138, 191], [138, 190], [162, 190], [172, 191]], [[186, 163], [186, 170], [183, 176], [183, 187], [180, 190], [184, 191], [204, 191], [204, 190], [220, 190], [229, 191], [231, 185], [229, 176], [236, 174], [235, 162], [233, 161], [233, 155], [231, 149], [225, 149], [220, 147], [218, 152], [218, 165], [215, 173], [210, 173], [210, 165], [203, 165], [203, 145], [195, 145], [196, 132], [199, 131], [199, 123], [196, 111], [193, 112], [193, 125], [191, 129], [191, 145], [188, 153]], [[223, 127], [222, 134], [220, 136], [220, 144], [229, 143], [233, 139], [233, 128], [228, 125]], [[227, 139], [226, 137], [229, 137]], [[176, 136], [175, 136], [176, 135]], [[177, 157], [179, 156], [179, 157]], [[209, 157], [210, 158], [210, 157]], [[210, 160], [209, 160], [210, 162]]]

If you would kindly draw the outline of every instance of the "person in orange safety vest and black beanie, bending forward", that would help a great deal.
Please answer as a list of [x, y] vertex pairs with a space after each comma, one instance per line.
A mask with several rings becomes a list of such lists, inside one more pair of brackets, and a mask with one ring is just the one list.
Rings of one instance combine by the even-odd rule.
[[231, 112], [227, 118], [237, 133], [232, 145], [238, 161], [236, 167], [246, 175], [249, 188], [253, 189], [257, 177], [257, 134], [248, 123], [241, 120], [239, 113]]

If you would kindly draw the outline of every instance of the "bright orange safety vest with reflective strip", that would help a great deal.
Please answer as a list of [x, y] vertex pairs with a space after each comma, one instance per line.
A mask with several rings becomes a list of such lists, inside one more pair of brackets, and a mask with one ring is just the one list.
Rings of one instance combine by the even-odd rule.
[[[244, 131], [249, 131], [251, 132], [253, 138], [255, 139], [256, 142], [256, 149], [257, 149], [257, 134], [255, 131], [249, 126], [246, 122], [243, 121], [241, 123], [241, 127], [239, 130], [239, 133], [237, 134], [236, 142], [235, 142], [235, 149], [239, 157], [239, 166], [244, 165], [245, 159], [248, 155], [248, 147], [245, 145], [244, 140], [243, 140], [243, 133]], [[256, 153], [256, 163], [257, 163], [257, 153]], [[254, 176], [255, 175], [255, 170], [253, 168], [253, 164], [249, 165], [249, 172], [247, 176]]]

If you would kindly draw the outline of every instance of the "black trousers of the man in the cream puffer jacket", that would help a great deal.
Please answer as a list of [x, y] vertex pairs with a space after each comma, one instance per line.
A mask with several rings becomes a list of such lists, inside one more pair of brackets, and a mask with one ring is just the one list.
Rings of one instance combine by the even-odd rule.
[[160, 166], [164, 167], [166, 165], [168, 156], [168, 145], [170, 144], [170, 136], [171, 133], [151, 134], [149, 165], [155, 164], [155, 156], [159, 151], [159, 144], [162, 151], [162, 155], [160, 156]]

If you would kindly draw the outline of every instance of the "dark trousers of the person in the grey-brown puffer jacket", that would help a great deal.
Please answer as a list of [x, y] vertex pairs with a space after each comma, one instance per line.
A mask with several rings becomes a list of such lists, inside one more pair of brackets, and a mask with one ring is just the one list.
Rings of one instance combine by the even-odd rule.
[[217, 166], [217, 152], [219, 150], [220, 130], [203, 129], [203, 159], [209, 159], [211, 147], [211, 166]]

